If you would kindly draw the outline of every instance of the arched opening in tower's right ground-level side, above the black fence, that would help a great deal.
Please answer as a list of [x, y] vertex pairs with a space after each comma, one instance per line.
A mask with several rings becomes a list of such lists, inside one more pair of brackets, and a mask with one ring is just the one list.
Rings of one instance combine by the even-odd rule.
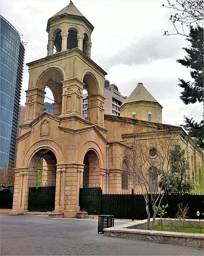
[[96, 152], [87, 151], [83, 164], [83, 188], [100, 187], [100, 163]]

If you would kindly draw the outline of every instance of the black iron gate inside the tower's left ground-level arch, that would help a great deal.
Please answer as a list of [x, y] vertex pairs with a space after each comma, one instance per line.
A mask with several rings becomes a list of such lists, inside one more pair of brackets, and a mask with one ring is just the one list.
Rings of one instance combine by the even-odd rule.
[[53, 211], [56, 186], [29, 187], [28, 211]]

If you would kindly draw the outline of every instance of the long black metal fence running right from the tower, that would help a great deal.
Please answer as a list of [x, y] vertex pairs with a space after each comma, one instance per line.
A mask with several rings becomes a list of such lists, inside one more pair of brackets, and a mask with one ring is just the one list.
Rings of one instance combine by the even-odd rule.
[[[189, 219], [201, 218], [204, 212], [203, 195], [165, 195], [161, 205], [168, 204], [165, 218], [175, 218], [178, 204], [188, 205], [187, 216]], [[89, 215], [110, 214], [117, 219], [144, 220], [147, 219], [146, 203], [141, 194], [102, 194], [101, 188], [81, 188], [79, 191], [79, 205], [81, 211], [88, 211]], [[197, 216], [197, 211], [200, 216]], [[150, 206], [151, 216], [153, 210]]]

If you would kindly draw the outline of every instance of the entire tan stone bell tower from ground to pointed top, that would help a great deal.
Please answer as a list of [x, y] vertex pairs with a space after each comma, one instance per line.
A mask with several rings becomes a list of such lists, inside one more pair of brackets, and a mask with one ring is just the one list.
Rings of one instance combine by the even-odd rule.
[[[47, 56], [27, 64], [29, 86], [18, 138], [12, 214], [30, 211], [29, 189], [37, 184], [41, 158], [45, 166], [42, 183], [55, 186], [51, 215], [76, 217], [80, 187], [100, 184], [105, 189], [103, 89], [107, 73], [90, 58], [92, 30], [92, 24], [70, 1], [48, 20]], [[45, 87], [53, 93], [53, 114], [44, 111]], [[88, 93], [87, 120], [82, 110], [83, 90]], [[83, 176], [86, 163], [90, 170], [85, 168]]]

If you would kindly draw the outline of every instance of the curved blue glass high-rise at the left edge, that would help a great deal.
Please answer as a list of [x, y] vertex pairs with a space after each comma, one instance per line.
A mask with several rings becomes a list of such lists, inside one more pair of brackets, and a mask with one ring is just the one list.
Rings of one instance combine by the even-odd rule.
[[15, 165], [24, 52], [18, 31], [0, 16], [0, 168]]

